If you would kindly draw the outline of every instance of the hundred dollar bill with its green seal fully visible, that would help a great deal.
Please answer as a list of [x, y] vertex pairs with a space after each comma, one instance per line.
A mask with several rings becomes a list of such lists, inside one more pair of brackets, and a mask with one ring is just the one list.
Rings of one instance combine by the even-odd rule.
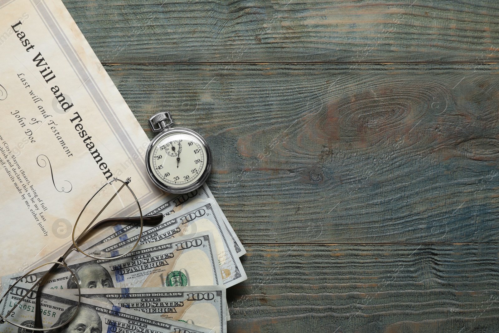
[[[142, 244], [119, 259], [85, 257], [66, 261], [79, 280], [80, 288], [131, 288], [222, 285], [220, 266], [211, 231], [160, 242]], [[126, 251], [125, 251], [126, 252]], [[47, 270], [50, 266], [46, 266]], [[46, 271], [34, 272], [21, 282], [38, 281]], [[2, 286], [12, 285], [22, 275], [1, 278]], [[64, 267], [50, 275], [45, 286], [75, 289], [71, 274]]]

